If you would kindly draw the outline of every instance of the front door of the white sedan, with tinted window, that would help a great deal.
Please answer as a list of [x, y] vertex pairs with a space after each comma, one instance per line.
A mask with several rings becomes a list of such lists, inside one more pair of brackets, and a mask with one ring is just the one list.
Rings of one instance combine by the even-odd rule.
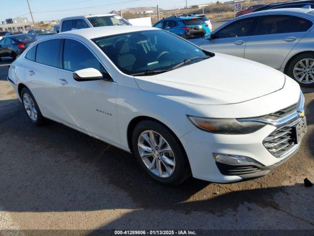
[[85, 45], [77, 40], [64, 39], [63, 70], [57, 75], [57, 101], [62, 121], [91, 136], [118, 144], [117, 84], [104, 80], [75, 81], [73, 72], [86, 68], [107, 73]]

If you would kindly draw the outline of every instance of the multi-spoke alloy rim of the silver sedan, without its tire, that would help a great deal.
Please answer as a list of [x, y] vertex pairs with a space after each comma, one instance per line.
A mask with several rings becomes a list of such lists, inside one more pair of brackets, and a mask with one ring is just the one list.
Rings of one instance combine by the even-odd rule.
[[299, 60], [293, 67], [294, 78], [303, 84], [314, 82], [314, 59], [305, 58]]

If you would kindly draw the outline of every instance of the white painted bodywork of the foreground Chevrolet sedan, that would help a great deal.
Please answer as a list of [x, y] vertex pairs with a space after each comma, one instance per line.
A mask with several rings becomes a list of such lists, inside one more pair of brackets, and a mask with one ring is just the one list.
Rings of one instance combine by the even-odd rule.
[[[240, 175], [221, 174], [213, 153], [244, 155], [265, 167], [275, 167], [299, 148], [300, 144], [295, 144], [280, 157], [271, 154], [263, 146], [263, 140], [277, 129], [274, 124], [267, 123], [254, 133], [228, 135], [201, 130], [187, 118], [187, 115], [258, 118], [277, 112], [303, 97], [299, 85], [291, 78], [260, 63], [218, 53], [210, 59], [162, 74], [130, 76], [121, 72], [91, 41], [141, 30], [159, 29], [135, 26], [80, 29], [47, 39], [78, 40], [103, 63], [114, 79], [112, 82], [76, 82], [72, 72], [26, 59], [29, 48], [11, 64], [8, 80], [20, 100], [21, 87], [30, 89], [44, 117], [126, 151], [131, 151], [128, 127], [132, 120], [149, 117], [160, 121], [180, 139], [192, 175], [199, 179], [224, 183], [243, 179]], [[29, 71], [34, 75], [29, 75]], [[58, 83], [62, 79], [68, 84]], [[295, 118], [300, 119], [297, 114], [303, 111], [303, 105], [301, 99], [298, 111], [293, 113]]]

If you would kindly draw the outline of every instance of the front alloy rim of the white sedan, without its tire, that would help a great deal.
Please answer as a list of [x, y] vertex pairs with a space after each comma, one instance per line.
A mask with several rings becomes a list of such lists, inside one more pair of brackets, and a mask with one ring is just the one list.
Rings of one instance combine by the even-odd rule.
[[137, 148], [141, 160], [154, 175], [170, 177], [176, 167], [176, 159], [168, 142], [157, 132], [146, 130], [138, 138]]

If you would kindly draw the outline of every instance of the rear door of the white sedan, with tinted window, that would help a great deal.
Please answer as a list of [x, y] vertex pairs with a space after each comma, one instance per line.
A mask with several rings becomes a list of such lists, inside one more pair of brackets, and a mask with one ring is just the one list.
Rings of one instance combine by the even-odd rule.
[[25, 78], [44, 117], [60, 120], [62, 104], [56, 102], [56, 76], [60, 67], [61, 39], [30, 48], [25, 59]]

